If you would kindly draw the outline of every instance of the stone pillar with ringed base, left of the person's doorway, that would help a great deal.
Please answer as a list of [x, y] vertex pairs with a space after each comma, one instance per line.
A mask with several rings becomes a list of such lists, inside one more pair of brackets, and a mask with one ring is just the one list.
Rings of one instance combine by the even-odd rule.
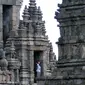
[[29, 63], [27, 61], [27, 51], [24, 48], [24, 46], [22, 46], [22, 63], [21, 63], [21, 72], [20, 72], [20, 81], [21, 81], [21, 85], [29, 85], [29, 76], [28, 76], [28, 67], [27, 64]]

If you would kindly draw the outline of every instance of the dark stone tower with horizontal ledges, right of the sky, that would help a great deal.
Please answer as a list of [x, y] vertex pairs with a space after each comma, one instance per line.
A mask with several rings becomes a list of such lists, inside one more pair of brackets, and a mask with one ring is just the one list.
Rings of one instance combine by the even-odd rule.
[[59, 22], [56, 85], [85, 84], [85, 1], [63, 0], [55, 18]]

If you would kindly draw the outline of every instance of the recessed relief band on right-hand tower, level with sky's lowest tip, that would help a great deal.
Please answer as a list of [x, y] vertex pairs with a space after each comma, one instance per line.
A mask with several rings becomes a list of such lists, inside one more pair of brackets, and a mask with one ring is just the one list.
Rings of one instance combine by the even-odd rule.
[[59, 45], [59, 60], [61, 59], [80, 59], [85, 58], [85, 45], [78, 44], [67, 44]]

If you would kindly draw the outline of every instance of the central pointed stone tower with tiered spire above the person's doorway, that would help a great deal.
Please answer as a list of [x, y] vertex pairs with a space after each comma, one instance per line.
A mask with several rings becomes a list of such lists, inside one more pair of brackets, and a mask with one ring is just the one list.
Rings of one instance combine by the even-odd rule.
[[[49, 63], [49, 40], [45, 35], [44, 23], [40, 7], [36, 6], [35, 0], [30, 0], [29, 6], [25, 6], [23, 20], [20, 21], [18, 30], [19, 37], [22, 37], [22, 85], [33, 85], [35, 83], [37, 61], [41, 62], [41, 76], [46, 76], [47, 74], [48, 67], [46, 63]], [[47, 59], [48, 62], [46, 61]]]

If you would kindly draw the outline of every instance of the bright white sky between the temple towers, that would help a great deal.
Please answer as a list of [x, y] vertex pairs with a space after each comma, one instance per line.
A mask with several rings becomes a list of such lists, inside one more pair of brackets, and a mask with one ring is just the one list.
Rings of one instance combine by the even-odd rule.
[[[49, 40], [52, 42], [53, 51], [58, 58], [58, 48], [56, 42], [60, 36], [59, 28], [57, 27], [58, 22], [54, 19], [55, 11], [58, 9], [58, 4], [61, 3], [62, 0], [36, 0], [37, 6], [41, 7], [41, 11], [43, 13], [43, 20], [45, 20], [45, 28], [46, 35], [48, 35]], [[23, 4], [21, 7], [21, 12], [24, 9], [25, 5], [29, 5], [29, 0], [23, 0]]]

